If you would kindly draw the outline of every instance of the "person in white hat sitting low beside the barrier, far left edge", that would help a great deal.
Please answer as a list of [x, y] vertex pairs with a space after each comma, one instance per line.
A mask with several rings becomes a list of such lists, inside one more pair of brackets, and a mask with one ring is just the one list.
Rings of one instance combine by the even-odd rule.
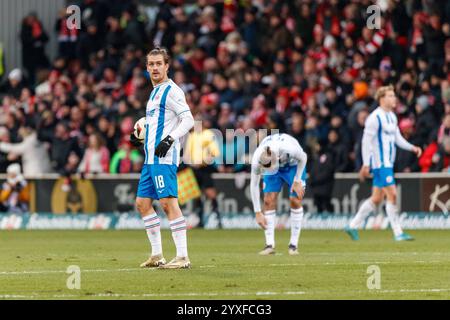
[[29, 185], [23, 177], [20, 165], [10, 164], [6, 169], [6, 181], [0, 190], [0, 211], [24, 213], [30, 202]]

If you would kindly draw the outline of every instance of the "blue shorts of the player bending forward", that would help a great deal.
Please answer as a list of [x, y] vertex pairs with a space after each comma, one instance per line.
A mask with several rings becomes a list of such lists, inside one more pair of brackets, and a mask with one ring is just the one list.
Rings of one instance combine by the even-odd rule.
[[[280, 192], [283, 187], [283, 182], [287, 183], [290, 192], [296, 173], [297, 166], [286, 166], [279, 168], [277, 173], [263, 175], [263, 193]], [[303, 170], [301, 180], [303, 188], [306, 188], [306, 169]], [[297, 194], [290, 192], [289, 196], [297, 197]]]

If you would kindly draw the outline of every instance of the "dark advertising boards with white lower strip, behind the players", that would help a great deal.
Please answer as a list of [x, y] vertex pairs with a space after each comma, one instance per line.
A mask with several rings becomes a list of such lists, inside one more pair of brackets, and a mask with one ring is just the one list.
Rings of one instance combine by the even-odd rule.
[[[5, 180], [0, 175], [0, 183]], [[258, 228], [250, 197], [250, 176], [215, 174], [217, 201], [225, 228]], [[142, 222], [135, 212], [139, 175], [88, 175], [74, 179], [71, 190], [63, 191], [63, 178], [57, 175], [30, 177], [30, 214], [0, 215], [0, 229], [139, 229]], [[398, 205], [405, 228], [450, 229], [450, 175], [397, 174]], [[360, 183], [356, 174], [336, 174], [332, 194], [333, 214], [316, 212], [312, 194], [307, 189], [303, 206], [305, 229], [340, 229], [356, 213], [361, 201], [370, 195], [371, 183]], [[278, 199], [277, 227], [289, 228], [288, 190]], [[203, 201], [205, 228], [216, 228], [218, 217], [208, 214], [210, 204]], [[196, 227], [199, 204], [189, 201], [182, 206], [188, 225]], [[161, 212], [159, 204], [156, 210]], [[389, 226], [383, 208], [366, 220], [364, 228]], [[162, 215], [164, 216], [164, 215]], [[163, 219], [162, 227], [168, 223]]]

